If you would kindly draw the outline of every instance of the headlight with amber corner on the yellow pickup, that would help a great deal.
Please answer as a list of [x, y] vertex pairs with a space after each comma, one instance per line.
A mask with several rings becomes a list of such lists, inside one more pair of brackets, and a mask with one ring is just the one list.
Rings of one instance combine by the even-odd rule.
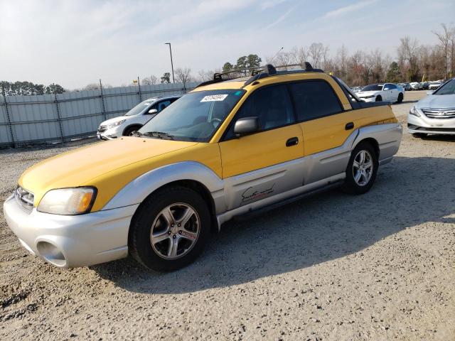
[[41, 199], [37, 210], [53, 215], [82, 215], [90, 212], [96, 195], [94, 187], [50, 190]]

